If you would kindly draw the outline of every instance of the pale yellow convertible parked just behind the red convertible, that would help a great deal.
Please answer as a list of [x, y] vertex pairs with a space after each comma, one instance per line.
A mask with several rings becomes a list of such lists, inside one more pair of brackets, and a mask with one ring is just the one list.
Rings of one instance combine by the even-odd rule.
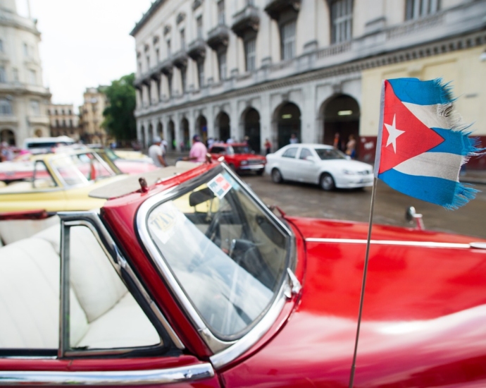
[[[0, 187], [0, 212], [91, 210], [105, 200], [89, 197], [93, 188], [124, 178], [106, 154], [89, 150], [42, 154], [32, 159], [24, 180]], [[9, 176], [12, 178], [13, 176]]]

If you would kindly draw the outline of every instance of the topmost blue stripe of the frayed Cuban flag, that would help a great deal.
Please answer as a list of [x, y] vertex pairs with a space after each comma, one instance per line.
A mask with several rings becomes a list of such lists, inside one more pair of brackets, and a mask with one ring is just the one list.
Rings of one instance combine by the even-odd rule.
[[435, 105], [454, 101], [449, 95], [449, 87], [442, 84], [440, 79], [421, 81], [418, 78], [395, 78], [388, 81], [401, 102]]

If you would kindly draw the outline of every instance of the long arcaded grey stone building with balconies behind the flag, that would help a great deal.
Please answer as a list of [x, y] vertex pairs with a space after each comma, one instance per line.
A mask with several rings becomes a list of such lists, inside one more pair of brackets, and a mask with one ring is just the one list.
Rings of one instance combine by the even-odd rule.
[[398, 76], [452, 80], [486, 140], [485, 0], [157, 0], [131, 35], [144, 145], [338, 133], [371, 161], [381, 82]]

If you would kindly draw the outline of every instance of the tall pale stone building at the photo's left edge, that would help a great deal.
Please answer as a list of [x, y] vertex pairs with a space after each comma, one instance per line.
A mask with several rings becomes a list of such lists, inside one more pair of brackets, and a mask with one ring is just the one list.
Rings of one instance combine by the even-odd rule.
[[15, 0], [0, 0], [0, 139], [20, 147], [25, 138], [49, 136], [51, 100], [42, 85], [40, 32], [17, 13]]

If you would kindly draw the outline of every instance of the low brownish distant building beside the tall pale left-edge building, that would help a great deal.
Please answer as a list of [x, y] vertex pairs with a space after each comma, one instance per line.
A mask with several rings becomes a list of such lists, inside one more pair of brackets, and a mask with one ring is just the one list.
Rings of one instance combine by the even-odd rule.
[[51, 136], [69, 136], [80, 140], [80, 116], [75, 114], [73, 104], [50, 104], [49, 121]]

